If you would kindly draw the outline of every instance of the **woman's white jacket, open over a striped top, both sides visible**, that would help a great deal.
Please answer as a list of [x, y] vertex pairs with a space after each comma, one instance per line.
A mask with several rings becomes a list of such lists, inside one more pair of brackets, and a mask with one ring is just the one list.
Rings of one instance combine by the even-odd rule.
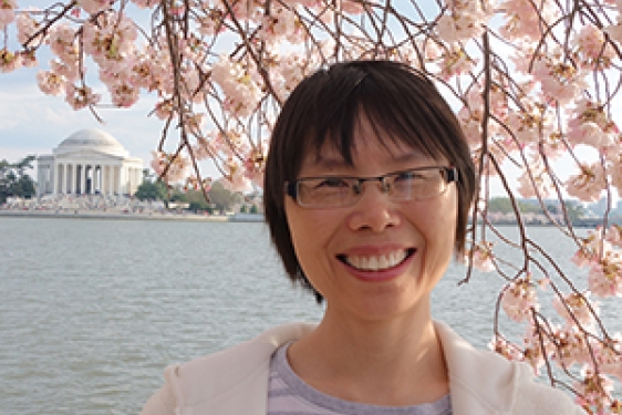
[[[266, 415], [270, 357], [311, 324], [271, 329], [222, 352], [165, 371], [166, 384], [142, 415]], [[449, 371], [454, 415], [584, 415], [566, 393], [533, 382], [526, 363], [475, 350], [452, 329], [435, 323]]]

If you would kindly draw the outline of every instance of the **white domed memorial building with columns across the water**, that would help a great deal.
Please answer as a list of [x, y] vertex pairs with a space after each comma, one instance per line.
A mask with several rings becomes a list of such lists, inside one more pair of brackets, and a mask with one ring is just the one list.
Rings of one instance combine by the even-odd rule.
[[143, 180], [143, 159], [99, 129], [70, 135], [37, 162], [38, 196], [133, 195]]

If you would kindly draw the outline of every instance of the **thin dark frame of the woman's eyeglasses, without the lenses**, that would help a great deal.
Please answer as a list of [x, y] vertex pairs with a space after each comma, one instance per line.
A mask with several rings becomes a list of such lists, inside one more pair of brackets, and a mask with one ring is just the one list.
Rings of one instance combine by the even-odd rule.
[[[445, 183], [448, 185], [453, 181], [458, 181], [458, 169], [454, 166], [425, 166], [425, 167], [415, 167], [415, 168], [408, 168], [405, 170], [397, 170], [397, 172], [391, 172], [387, 174], [384, 174], [382, 176], [376, 176], [376, 177], [354, 177], [354, 176], [313, 176], [313, 177], [301, 177], [297, 180], [293, 181], [286, 181], [284, 184], [284, 193], [286, 195], [290, 196], [299, 206], [304, 207], [304, 208], [309, 208], [309, 209], [332, 209], [332, 208], [342, 208], [342, 207], [351, 207], [354, 206], [357, 201], [357, 198], [353, 198], [353, 203], [352, 204], [345, 204], [345, 205], [328, 205], [328, 206], [322, 206], [322, 205], [304, 205], [302, 203], [300, 203], [300, 200], [298, 199], [298, 186], [300, 183], [305, 181], [305, 180], [318, 180], [318, 179], [325, 179], [325, 178], [343, 178], [343, 179], [348, 179], [348, 180], [356, 180], [356, 186], [362, 189], [363, 188], [363, 183], [365, 181], [380, 181], [381, 184], [381, 188], [383, 193], [388, 193], [388, 189], [386, 188], [386, 184], [385, 184], [385, 179], [387, 177], [391, 176], [395, 176], [395, 175], [400, 175], [400, 174], [404, 174], [404, 173], [411, 173], [411, 172], [419, 172], [419, 170], [429, 170], [429, 169], [438, 169], [439, 172], [444, 172], [444, 179]], [[431, 197], [426, 197], [426, 198], [419, 198], [417, 199], [416, 197], [413, 197], [411, 199], [404, 199], [404, 201], [412, 201], [412, 200], [425, 200], [425, 199], [431, 199], [433, 197], [436, 196], [440, 196], [445, 193], [445, 190], [447, 190], [447, 188], [445, 188], [443, 191], [440, 191], [438, 195], [435, 196], [431, 196]], [[362, 195], [363, 191], [361, 191], [359, 194]]]

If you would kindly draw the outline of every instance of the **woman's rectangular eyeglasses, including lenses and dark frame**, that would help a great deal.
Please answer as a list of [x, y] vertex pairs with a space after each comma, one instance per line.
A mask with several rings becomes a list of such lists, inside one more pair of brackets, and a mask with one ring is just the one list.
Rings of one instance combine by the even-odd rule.
[[458, 180], [456, 167], [419, 167], [379, 177], [303, 177], [286, 183], [284, 191], [305, 208], [348, 207], [363, 194], [363, 183], [380, 181], [392, 200], [424, 200], [439, 196]]

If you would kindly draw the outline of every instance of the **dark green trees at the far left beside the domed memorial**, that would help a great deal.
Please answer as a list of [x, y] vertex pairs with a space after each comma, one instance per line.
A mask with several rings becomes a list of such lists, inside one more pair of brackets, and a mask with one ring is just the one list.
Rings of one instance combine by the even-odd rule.
[[0, 162], [0, 204], [9, 197], [21, 197], [29, 199], [37, 194], [37, 186], [27, 170], [32, 169], [32, 162], [37, 157], [25, 156], [17, 163], [7, 159]]

